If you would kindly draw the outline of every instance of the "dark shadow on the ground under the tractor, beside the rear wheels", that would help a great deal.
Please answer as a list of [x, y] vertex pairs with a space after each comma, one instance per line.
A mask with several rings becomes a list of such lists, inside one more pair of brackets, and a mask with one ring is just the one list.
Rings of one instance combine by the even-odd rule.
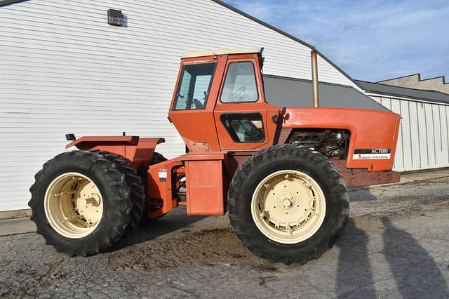
[[187, 216], [185, 207], [180, 206], [159, 219], [144, 220], [128, 237], [121, 239], [117, 244], [109, 248], [108, 252], [119, 251], [128, 246], [156, 239], [163, 234], [181, 230], [183, 227], [187, 227], [204, 218], [206, 216]]

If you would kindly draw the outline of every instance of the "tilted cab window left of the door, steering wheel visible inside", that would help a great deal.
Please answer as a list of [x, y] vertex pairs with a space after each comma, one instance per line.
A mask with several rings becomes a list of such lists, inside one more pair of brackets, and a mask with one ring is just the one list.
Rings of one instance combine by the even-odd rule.
[[185, 65], [177, 86], [173, 110], [204, 109], [214, 72], [215, 63]]

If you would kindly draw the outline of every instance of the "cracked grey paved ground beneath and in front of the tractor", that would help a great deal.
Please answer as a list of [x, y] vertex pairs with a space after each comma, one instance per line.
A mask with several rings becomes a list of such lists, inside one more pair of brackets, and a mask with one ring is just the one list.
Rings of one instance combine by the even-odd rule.
[[182, 208], [89, 258], [0, 237], [0, 297], [449, 298], [448, 190], [449, 177], [351, 191], [342, 238], [306, 265], [256, 258], [227, 216]]

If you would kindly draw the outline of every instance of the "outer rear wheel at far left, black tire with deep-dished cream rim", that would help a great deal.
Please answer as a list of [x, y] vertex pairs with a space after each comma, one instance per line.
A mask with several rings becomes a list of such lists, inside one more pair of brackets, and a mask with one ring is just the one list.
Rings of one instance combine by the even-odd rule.
[[126, 233], [132, 208], [125, 175], [101, 154], [73, 151], [43, 164], [30, 187], [37, 233], [57, 251], [93, 255]]

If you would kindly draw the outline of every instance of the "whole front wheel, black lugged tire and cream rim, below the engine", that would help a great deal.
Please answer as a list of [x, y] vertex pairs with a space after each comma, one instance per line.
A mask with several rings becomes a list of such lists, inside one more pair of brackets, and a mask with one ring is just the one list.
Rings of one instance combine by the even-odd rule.
[[349, 195], [322, 154], [275, 145], [234, 175], [228, 211], [234, 232], [255, 255], [304, 264], [332, 248], [348, 219]]

